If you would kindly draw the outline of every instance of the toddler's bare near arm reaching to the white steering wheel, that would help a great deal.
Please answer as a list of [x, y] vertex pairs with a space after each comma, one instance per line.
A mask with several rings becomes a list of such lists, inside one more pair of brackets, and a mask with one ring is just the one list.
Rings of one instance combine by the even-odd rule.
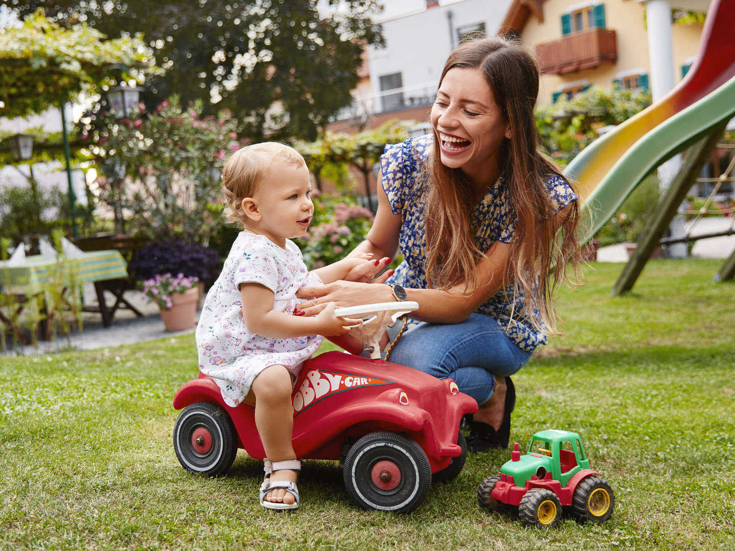
[[243, 320], [248, 329], [260, 336], [273, 339], [293, 339], [297, 336], [320, 334], [324, 336], [343, 335], [353, 325], [362, 320], [334, 316], [336, 303], [329, 303], [313, 317], [298, 317], [286, 312], [273, 310], [273, 291], [257, 283], [240, 284], [243, 299]]

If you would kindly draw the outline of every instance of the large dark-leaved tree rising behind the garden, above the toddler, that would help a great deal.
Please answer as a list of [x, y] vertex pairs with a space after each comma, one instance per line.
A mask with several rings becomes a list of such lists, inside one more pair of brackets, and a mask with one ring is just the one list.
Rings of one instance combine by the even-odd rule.
[[[302, 137], [351, 101], [362, 45], [381, 43], [370, 13], [379, 0], [14, 0], [21, 15], [38, 5], [62, 24], [86, 21], [106, 35], [143, 32], [165, 76], [148, 86], [207, 112], [232, 110], [254, 141]], [[337, 5], [342, 4], [337, 10]], [[348, 12], [348, 15], [345, 13]], [[122, 30], [121, 30], [122, 29]]]

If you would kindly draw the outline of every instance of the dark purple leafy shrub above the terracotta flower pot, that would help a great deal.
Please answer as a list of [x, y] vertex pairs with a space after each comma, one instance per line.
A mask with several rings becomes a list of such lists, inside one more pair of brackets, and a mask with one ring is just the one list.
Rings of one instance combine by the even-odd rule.
[[133, 253], [129, 273], [143, 281], [161, 273], [182, 273], [205, 284], [217, 278], [222, 262], [217, 251], [184, 241], [154, 241]]

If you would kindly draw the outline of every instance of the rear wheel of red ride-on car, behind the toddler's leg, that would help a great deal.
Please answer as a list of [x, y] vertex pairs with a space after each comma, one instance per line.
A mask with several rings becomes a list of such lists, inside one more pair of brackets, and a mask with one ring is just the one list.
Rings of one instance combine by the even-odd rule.
[[173, 425], [173, 449], [187, 471], [223, 475], [237, 454], [232, 419], [223, 408], [209, 402], [185, 407]]

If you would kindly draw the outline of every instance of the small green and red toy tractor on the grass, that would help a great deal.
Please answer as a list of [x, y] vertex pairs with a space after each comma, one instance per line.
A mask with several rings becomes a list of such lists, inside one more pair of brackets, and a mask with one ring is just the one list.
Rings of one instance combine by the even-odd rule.
[[516, 443], [501, 472], [482, 481], [477, 500], [492, 511], [517, 505], [523, 524], [542, 528], [559, 523], [562, 506], [583, 519], [605, 522], [615, 503], [609, 483], [589, 468], [579, 435], [553, 429], [534, 434], [526, 455]]

